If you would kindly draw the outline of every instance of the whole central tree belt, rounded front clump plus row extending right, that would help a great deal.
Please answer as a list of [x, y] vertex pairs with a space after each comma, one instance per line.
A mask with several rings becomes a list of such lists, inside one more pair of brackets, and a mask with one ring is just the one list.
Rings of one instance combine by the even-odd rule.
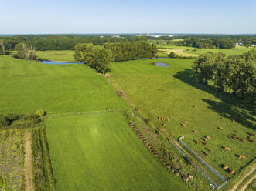
[[104, 46], [79, 43], [75, 46], [75, 59], [84, 62], [98, 72], [105, 73], [114, 61], [155, 57], [157, 49], [148, 42], [118, 42]]

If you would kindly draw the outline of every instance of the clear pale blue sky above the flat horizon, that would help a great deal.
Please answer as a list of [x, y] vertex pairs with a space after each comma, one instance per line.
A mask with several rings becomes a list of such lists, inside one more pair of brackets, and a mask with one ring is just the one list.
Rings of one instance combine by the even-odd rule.
[[256, 33], [256, 0], [0, 0], [0, 34]]

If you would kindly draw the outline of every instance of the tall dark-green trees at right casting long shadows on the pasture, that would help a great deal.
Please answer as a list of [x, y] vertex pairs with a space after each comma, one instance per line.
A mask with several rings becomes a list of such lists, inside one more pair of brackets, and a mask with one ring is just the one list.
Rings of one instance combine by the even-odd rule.
[[220, 92], [232, 92], [241, 99], [256, 95], [256, 51], [226, 56], [207, 52], [193, 62], [193, 74], [199, 82], [213, 82]]

